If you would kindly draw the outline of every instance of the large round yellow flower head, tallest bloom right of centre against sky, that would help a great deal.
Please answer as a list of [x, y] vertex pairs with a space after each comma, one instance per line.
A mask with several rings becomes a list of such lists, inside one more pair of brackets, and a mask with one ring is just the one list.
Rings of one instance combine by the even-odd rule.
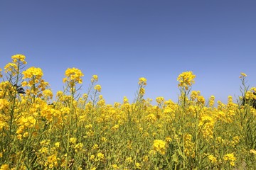
[[179, 74], [177, 81], [179, 81], [178, 87], [185, 88], [188, 90], [189, 86], [195, 83], [196, 75], [193, 72], [183, 72]]

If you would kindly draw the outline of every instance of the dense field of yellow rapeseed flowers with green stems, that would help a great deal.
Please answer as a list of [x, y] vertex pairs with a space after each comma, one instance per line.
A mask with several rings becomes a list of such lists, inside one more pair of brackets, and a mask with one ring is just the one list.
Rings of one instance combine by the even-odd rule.
[[159, 96], [152, 105], [142, 77], [134, 101], [109, 105], [97, 75], [80, 94], [82, 72], [67, 69], [53, 98], [40, 68], [11, 58], [0, 69], [1, 170], [256, 169], [256, 88], [244, 73], [236, 102], [204, 98], [192, 90], [196, 75], [183, 72], [178, 103]]

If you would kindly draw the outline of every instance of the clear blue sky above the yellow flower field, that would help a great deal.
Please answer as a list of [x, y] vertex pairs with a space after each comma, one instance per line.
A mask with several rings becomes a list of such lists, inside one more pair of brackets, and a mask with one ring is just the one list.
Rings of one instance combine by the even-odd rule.
[[26, 55], [53, 91], [68, 67], [82, 91], [99, 76], [107, 103], [133, 101], [139, 77], [146, 98], [177, 101], [178, 74], [196, 74], [193, 90], [224, 103], [240, 95], [240, 72], [256, 86], [256, 1], [80, 0], [0, 2], [0, 67]]

